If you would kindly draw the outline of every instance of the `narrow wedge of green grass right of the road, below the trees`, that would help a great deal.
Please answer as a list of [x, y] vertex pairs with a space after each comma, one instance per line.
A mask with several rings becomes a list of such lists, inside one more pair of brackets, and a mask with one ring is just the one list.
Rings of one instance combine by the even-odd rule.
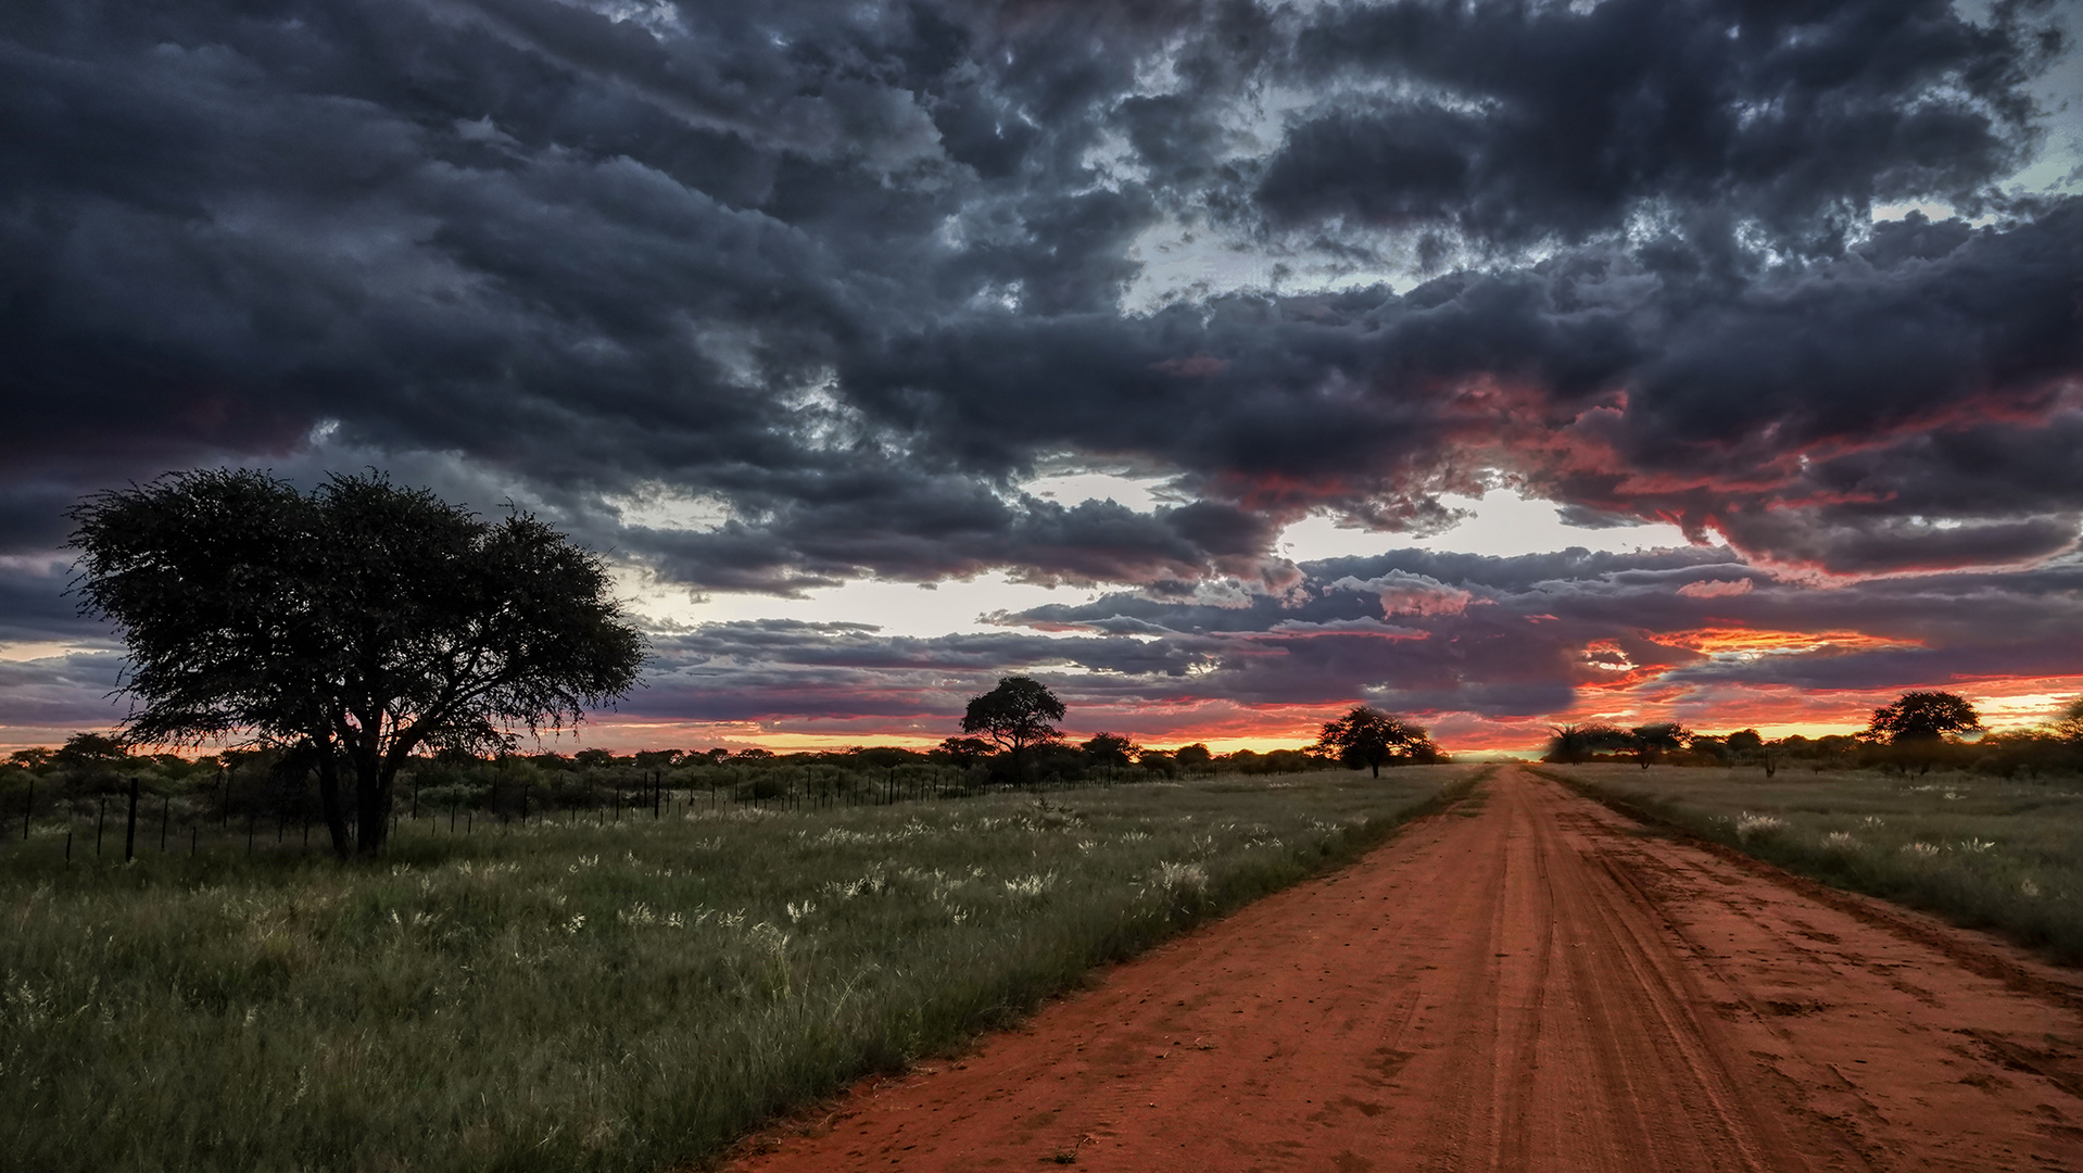
[[1544, 767], [1598, 796], [1835, 888], [2083, 965], [2083, 779], [1971, 773]]

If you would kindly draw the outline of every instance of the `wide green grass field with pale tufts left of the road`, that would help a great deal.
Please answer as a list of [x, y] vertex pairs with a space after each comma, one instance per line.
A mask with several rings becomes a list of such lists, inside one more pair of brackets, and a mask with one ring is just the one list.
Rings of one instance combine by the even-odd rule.
[[1356, 856], [1471, 767], [0, 856], [10, 1169], [664, 1169]]

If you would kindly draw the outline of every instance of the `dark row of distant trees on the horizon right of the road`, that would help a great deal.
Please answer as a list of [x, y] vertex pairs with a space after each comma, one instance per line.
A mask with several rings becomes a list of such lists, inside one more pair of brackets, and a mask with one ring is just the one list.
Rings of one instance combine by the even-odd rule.
[[1975, 706], [1950, 692], [1906, 692], [1893, 704], [1875, 708], [1864, 729], [1825, 738], [1764, 738], [1756, 729], [1696, 733], [1668, 721], [1635, 727], [1589, 721], [1552, 727], [1544, 760], [1629, 760], [1643, 769], [1656, 763], [1756, 767], [1766, 775], [1793, 765], [1904, 773], [1943, 767], [2033, 777], [2083, 771], [2083, 698], [2041, 727], [2002, 733], [1983, 729]]

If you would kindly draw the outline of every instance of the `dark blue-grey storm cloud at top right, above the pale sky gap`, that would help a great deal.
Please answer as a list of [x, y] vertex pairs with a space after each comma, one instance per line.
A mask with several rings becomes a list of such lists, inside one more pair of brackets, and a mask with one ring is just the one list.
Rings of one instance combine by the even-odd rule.
[[1287, 71], [1333, 96], [1289, 129], [1258, 202], [1285, 221], [1504, 244], [1675, 204], [1827, 246], [1868, 202], [1968, 204], [2023, 163], [2018, 83], [2058, 48], [2029, 15], [1998, 6], [1977, 27], [1950, 0], [1329, 6]]

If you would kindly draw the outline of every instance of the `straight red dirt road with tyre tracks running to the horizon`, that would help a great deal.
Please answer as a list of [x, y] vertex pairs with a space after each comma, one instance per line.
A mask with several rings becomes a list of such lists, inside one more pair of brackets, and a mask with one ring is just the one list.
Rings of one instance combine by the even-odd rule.
[[739, 1169], [2083, 1171], [2073, 979], [1771, 875], [1506, 769]]

